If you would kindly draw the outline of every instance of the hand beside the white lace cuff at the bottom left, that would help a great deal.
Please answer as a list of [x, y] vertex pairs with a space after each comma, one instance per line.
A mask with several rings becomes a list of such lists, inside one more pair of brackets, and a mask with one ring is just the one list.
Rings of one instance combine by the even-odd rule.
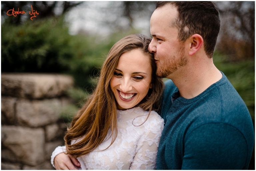
[[[71, 155], [60, 153], [54, 158], [56, 170], [77, 170], [75, 166], [80, 167], [79, 161]], [[74, 165], [73, 165], [73, 163]]]

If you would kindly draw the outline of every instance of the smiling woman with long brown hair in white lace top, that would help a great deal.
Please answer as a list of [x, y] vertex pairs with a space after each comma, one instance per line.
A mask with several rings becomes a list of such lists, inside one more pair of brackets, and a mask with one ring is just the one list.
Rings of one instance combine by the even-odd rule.
[[150, 41], [130, 35], [111, 48], [95, 92], [71, 122], [65, 146], [52, 154], [56, 169], [69, 169], [55, 160], [63, 152], [77, 158], [81, 169], [156, 169], [164, 121], [153, 110], [163, 81], [155, 74]]

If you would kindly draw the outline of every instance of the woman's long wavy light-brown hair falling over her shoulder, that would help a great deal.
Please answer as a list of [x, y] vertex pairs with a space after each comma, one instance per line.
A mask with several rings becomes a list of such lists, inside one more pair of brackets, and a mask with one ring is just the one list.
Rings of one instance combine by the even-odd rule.
[[[151, 38], [135, 34], [129, 35], [118, 41], [109, 51], [101, 68], [98, 85], [85, 105], [73, 118], [70, 127], [64, 137], [67, 153], [74, 156], [83, 156], [95, 149], [105, 139], [111, 129], [112, 141], [117, 137], [117, 105], [110, 82], [117, 67], [118, 60], [125, 52], [139, 49], [150, 58], [152, 67], [152, 88], [148, 95], [136, 106], [144, 110], [157, 110], [159, 99], [163, 90], [163, 81], [156, 76], [156, 64], [154, 57], [148, 51]], [[149, 116], [149, 115], [148, 115]], [[83, 137], [84, 136], [84, 137]], [[82, 138], [71, 145], [71, 140]], [[110, 145], [111, 145], [110, 144]], [[109, 145], [109, 146], [110, 146]]]

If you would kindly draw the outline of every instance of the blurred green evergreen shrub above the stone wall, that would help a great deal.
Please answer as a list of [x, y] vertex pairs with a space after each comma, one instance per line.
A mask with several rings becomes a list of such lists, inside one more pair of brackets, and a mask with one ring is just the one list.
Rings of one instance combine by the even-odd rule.
[[70, 74], [75, 85], [89, 91], [108, 51], [122, 38], [122, 34], [103, 41], [96, 36], [72, 36], [63, 17], [19, 26], [4, 23], [1, 35], [2, 72]]

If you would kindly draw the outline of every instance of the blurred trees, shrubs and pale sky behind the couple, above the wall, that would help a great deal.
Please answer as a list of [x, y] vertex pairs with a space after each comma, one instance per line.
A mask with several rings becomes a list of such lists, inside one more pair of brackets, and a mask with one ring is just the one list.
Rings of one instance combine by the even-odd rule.
[[[243, 98], [255, 125], [255, 2], [214, 3], [221, 17], [214, 64]], [[28, 14], [31, 4], [39, 13], [33, 21], [30, 15], [6, 14], [13, 8]], [[69, 122], [96, 86], [100, 67], [114, 43], [129, 34], [150, 36], [154, 9], [155, 2], [147, 1], [2, 1], [1, 72], [73, 76], [75, 88], [67, 95], [76, 103], [62, 112]], [[249, 169], [254, 168], [250, 164]]]

